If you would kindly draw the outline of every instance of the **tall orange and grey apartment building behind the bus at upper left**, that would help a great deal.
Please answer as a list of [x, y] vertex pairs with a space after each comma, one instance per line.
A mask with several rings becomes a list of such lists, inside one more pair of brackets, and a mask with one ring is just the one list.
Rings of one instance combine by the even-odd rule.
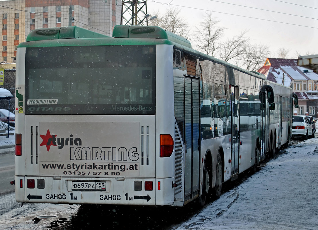
[[34, 29], [72, 25], [111, 36], [121, 19], [120, 0], [8, 0], [0, 10], [3, 63], [15, 62], [17, 45]]

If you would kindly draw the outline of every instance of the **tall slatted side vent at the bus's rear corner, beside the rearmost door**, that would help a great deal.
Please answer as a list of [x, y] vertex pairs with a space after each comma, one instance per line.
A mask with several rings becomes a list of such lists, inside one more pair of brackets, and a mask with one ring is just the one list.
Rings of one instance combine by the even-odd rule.
[[175, 126], [175, 200], [182, 201], [182, 188], [183, 188], [183, 145], [180, 135]]

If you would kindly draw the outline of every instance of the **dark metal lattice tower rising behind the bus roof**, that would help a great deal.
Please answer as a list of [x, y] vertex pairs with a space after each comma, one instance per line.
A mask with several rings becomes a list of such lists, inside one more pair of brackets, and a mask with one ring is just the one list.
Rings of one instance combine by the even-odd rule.
[[121, 5], [121, 25], [138, 25], [145, 19], [148, 25], [146, 0], [123, 0]]

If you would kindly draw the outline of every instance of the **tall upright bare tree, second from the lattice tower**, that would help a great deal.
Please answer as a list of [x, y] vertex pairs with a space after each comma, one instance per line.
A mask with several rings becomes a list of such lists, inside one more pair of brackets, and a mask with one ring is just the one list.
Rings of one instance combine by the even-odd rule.
[[212, 12], [205, 15], [205, 20], [199, 27], [195, 27], [194, 40], [197, 42], [198, 50], [205, 54], [214, 56], [221, 48], [220, 39], [225, 28], [218, 27], [219, 20], [212, 18]]

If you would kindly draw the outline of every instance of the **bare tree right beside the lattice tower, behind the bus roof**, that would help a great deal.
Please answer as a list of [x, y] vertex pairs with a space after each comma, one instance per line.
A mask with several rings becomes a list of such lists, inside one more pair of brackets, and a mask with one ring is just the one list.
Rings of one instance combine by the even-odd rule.
[[179, 13], [180, 10], [177, 8], [169, 8], [164, 15], [161, 15], [159, 11], [157, 11], [153, 14], [157, 18], [149, 20], [148, 24], [159, 26], [177, 35], [187, 37], [189, 34], [188, 25], [184, 22], [184, 19], [179, 16]]

